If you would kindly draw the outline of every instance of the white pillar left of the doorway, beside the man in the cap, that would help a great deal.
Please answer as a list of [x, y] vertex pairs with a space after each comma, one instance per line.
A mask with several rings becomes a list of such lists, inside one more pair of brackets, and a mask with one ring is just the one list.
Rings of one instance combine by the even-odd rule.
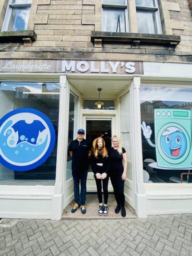
[[[57, 167], [54, 196], [52, 198], [51, 219], [60, 220], [64, 209], [64, 184], [67, 169], [67, 142], [69, 123], [69, 84], [66, 74], [60, 75], [59, 130], [57, 147]], [[65, 170], [65, 171], [64, 171]]]

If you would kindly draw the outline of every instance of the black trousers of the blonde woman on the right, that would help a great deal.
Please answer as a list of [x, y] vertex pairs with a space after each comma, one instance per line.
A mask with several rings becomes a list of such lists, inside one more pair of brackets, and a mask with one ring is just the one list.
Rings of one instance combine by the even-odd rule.
[[114, 190], [114, 196], [116, 199], [117, 204], [121, 206], [125, 206], [125, 195], [124, 195], [124, 183], [125, 181], [122, 180], [121, 173], [110, 173], [110, 179]]

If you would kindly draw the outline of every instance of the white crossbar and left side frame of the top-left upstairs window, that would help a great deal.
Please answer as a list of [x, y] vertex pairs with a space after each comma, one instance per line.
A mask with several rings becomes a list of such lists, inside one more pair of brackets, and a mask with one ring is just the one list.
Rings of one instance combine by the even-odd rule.
[[[27, 1], [27, 0], [26, 0]], [[5, 18], [4, 18], [4, 22], [2, 25], [2, 31], [12, 31], [12, 30], [8, 30], [8, 27], [10, 25], [10, 20], [11, 20], [11, 15], [12, 15], [12, 10], [14, 8], [29, 8], [31, 7], [31, 3], [25, 3], [25, 4], [11, 4], [12, 0], [9, 0], [6, 12], [5, 12]], [[32, 2], [32, 0], [31, 0]]]

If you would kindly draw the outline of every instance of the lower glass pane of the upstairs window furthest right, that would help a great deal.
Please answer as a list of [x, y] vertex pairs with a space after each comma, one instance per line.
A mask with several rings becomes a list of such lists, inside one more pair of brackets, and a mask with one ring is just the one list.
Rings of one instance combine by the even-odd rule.
[[157, 24], [153, 11], [137, 11], [138, 33], [157, 34]]

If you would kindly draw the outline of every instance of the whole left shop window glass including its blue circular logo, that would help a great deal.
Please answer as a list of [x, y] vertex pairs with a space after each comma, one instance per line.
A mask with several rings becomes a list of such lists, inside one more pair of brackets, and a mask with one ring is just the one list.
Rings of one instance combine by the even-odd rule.
[[[59, 84], [1, 82], [0, 102], [3, 106], [0, 108], [0, 136], [5, 140], [0, 144], [0, 184], [54, 185], [59, 123]], [[30, 118], [25, 114], [25, 109], [30, 109]], [[6, 122], [9, 118], [11, 119], [12, 113], [18, 113], [13, 115], [18, 119], [13, 118], [12, 124], [6, 130], [4, 125], [7, 125]], [[38, 116], [39, 113], [40, 116]], [[49, 127], [51, 132], [47, 134]], [[6, 134], [9, 137], [5, 138]], [[50, 148], [48, 142], [52, 143]], [[7, 148], [7, 155], [3, 147]], [[22, 151], [24, 148], [25, 151]], [[20, 154], [22, 162], [17, 161], [16, 156], [9, 159], [9, 150], [12, 150], [15, 155]], [[37, 158], [32, 159], [29, 156], [34, 152]], [[39, 155], [38, 152], [40, 152]], [[30, 160], [27, 160], [28, 158]], [[25, 163], [26, 166], [30, 163], [30, 169], [25, 170]]]

